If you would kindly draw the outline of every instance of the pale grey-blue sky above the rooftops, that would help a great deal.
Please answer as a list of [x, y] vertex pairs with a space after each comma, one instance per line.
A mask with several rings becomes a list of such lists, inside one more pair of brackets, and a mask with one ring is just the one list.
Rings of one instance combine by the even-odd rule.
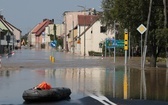
[[83, 10], [79, 6], [101, 11], [101, 2], [102, 0], [0, 0], [0, 14], [24, 35], [45, 18], [61, 23], [65, 11]]

